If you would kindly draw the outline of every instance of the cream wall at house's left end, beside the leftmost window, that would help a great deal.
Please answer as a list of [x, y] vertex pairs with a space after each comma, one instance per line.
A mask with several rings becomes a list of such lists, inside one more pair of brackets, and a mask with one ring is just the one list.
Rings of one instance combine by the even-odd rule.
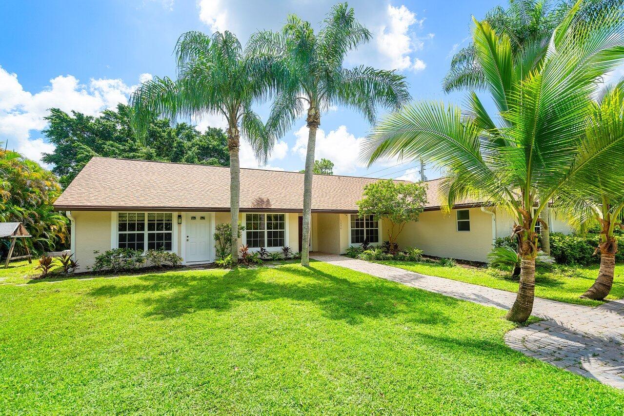
[[109, 211], [72, 211], [76, 221], [74, 257], [80, 265], [77, 271], [87, 271], [93, 267], [95, 250], [104, 253], [110, 249], [110, 212]]

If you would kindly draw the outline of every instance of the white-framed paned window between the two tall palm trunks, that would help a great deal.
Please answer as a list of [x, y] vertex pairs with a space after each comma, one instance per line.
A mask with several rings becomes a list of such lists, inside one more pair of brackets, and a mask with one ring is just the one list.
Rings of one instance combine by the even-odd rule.
[[284, 214], [247, 214], [245, 230], [246, 244], [249, 248], [286, 245], [286, 216]]

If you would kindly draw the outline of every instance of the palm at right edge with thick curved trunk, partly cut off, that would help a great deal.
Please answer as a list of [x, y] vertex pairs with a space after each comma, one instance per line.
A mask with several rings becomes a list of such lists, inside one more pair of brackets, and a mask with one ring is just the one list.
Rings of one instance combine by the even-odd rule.
[[[578, 228], [600, 226], [600, 271], [592, 287], [581, 297], [604, 299], [613, 286], [617, 240], [613, 235], [624, 210], [624, 79], [610, 85], [592, 104], [593, 111], [587, 126], [588, 141], [599, 143], [611, 163], [592, 166], [585, 148], [578, 151], [575, 165], [582, 167], [565, 185], [558, 204], [562, 206]], [[618, 163], [619, 162], [619, 163]]]

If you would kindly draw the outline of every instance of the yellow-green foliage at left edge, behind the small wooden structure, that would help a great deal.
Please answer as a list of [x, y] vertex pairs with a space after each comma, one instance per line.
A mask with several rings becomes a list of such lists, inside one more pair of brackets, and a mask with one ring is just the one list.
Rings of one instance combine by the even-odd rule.
[[[69, 244], [69, 221], [52, 206], [60, 194], [52, 172], [0, 146], [0, 222], [21, 222], [32, 236], [17, 239], [15, 255], [26, 254], [26, 246], [39, 254]], [[6, 257], [8, 239], [0, 241], [0, 257]]]

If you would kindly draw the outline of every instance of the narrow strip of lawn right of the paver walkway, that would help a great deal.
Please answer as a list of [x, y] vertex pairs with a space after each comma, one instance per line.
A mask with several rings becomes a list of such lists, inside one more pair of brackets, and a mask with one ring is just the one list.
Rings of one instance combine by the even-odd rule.
[[[416, 273], [439, 276], [467, 283], [479, 284], [488, 288], [502, 289], [510, 292], [518, 291], [518, 282], [510, 279], [509, 273], [502, 273], [491, 269], [465, 268], [462, 266], [444, 267], [435, 263], [414, 263], [411, 261], [379, 261]], [[598, 276], [598, 266], [565, 267], [557, 266], [549, 272], [537, 271], [535, 275], [535, 296], [553, 299], [555, 301], [575, 303], [580, 305], [597, 306], [601, 301], [580, 299], [587, 289], [592, 286]], [[622, 299], [624, 297], [624, 265], [615, 266], [613, 289], [607, 300]]]

